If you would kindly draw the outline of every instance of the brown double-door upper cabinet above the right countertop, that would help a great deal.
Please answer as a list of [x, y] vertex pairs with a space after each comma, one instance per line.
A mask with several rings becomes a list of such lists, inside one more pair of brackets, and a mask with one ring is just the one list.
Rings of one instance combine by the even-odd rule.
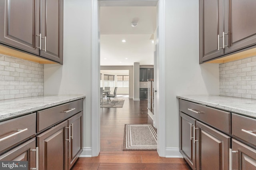
[[256, 1], [199, 0], [199, 62], [256, 47]]

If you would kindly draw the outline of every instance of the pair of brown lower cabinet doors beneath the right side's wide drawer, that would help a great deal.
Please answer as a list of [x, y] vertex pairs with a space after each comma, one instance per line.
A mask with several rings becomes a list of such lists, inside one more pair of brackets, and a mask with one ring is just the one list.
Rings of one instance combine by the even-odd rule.
[[179, 114], [180, 153], [190, 167], [193, 170], [229, 170], [230, 136], [181, 111]]

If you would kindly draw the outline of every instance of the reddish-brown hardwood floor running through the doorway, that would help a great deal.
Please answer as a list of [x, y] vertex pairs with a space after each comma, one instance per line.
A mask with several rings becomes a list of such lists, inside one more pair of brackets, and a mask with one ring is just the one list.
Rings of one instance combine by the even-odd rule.
[[125, 124], [153, 123], [147, 100], [122, 99], [122, 108], [100, 108], [99, 156], [79, 158], [72, 170], [190, 170], [184, 159], [159, 157], [157, 151], [122, 151]]

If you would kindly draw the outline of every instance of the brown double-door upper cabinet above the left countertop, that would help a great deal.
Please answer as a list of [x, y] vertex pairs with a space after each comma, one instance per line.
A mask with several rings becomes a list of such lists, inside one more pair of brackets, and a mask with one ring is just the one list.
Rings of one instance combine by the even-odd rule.
[[63, 0], [1, 0], [0, 43], [63, 61]]

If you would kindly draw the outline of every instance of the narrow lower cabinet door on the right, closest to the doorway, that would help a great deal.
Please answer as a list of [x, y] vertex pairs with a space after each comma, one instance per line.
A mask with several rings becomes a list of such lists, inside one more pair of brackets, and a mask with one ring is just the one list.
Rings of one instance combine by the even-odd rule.
[[181, 111], [179, 115], [180, 153], [194, 170], [196, 169], [196, 145], [192, 129], [196, 125], [196, 120]]

